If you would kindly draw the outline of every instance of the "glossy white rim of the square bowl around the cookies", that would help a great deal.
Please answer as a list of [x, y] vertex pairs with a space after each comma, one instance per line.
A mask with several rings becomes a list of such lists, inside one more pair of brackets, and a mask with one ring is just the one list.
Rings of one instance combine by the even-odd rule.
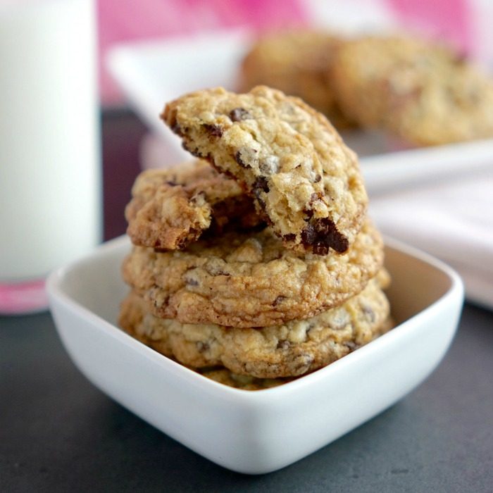
[[454, 269], [447, 266], [446, 263], [392, 237], [384, 236], [384, 241], [386, 247], [397, 250], [401, 254], [417, 258], [418, 260], [427, 263], [429, 266], [434, 267], [446, 275], [450, 282], [447, 291], [430, 305], [423, 308], [423, 310], [414, 314], [410, 318], [407, 318], [404, 322], [396, 325], [389, 332], [386, 332], [374, 341], [358, 348], [356, 351], [352, 351], [343, 358], [330, 363], [330, 365], [325, 366], [325, 368], [320, 368], [312, 373], [309, 373], [308, 375], [303, 375], [295, 380], [286, 382], [285, 384], [266, 389], [259, 389], [255, 392], [230, 387], [220, 382], [216, 382], [205, 377], [204, 375], [201, 375], [200, 373], [196, 373], [194, 370], [187, 368], [177, 361], [173, 361], [167, 356], [164, 356], [163, 354], [158, 353], [158, 351], [146, 346], [142, 342], [139, 342], [137, 339], [120, 329], [116, 323], [113, 324], [108, 322], [108, 320], [105, 320], [102, 316], [94, 313], [94, 311], [89, 310], [89, 308], [85, 307], [79, 301], [64, 292], [62, 287], [63, 280], [65, 280], [65, 277], [68, 273], [70, 273], [70, 271], [83, 267], [97, 256], [111, 254], [112, 252], [118, 251], [125, 246], [130, 247], [130, 239], [128, 239], [126, 235], [100, 244], [89, 254], [86, 254], [85, 256], [77, 258], [75, 261], [66, 263], [65, 265], [53, 270], [46, 280], [46, 292], [49, 296], [49, 305], [52, 313], [54, 311], [54, 306], [64, 306], [68, 311], [70, 311], [70, 313], [73, 314], [73, 316], [86, 320], [87, 323], [91, 323], [94, 327], [99, 327], [99, 330], [105, 332], [106, 335], [118, 340], [121, 344], [125, 344], [125, 346], [132, 348], [132, 350], [140, 356], [144, 356], [144, 358], [151, 360], [154, 364], [161, 366], [161, 368], [166, 370], [168, 373], [172, 373], [175, 376], [180, 376], [180, 378], [186, 380], [192, 386], [201, 387], [202, 392], [215, 395], [221, 399], [234, 399], [235, 401], [244, 401], [247, 404], [256, 404], [258, 401], [265, 402], [270, 399], [277, 400], [281, 397], [285, 398], [287, 395], [297, 392], [300, 387], [317, 385], [320, 380], [330, 378], [330, 375], [337, 374], [339, 371], [344, 371], [347, 366], [354, 366], [354, 364], [357, 364], [358, 360], [370, 356], [375, 349], [375, 344], [377, 345], [376, 347], [393, 344], [396, 339], [401, 337], [401, 335], [406, 332], [406, 329], [409, 326], [413, 325], [413, 321], [416, 320], [416, 318], [428, 316], [433, 311], [439, 310], [445, 300], [454, 296], [454, 294], [458, 295], [458, 298], [463, 300], [463, 282], [461, 277]]

